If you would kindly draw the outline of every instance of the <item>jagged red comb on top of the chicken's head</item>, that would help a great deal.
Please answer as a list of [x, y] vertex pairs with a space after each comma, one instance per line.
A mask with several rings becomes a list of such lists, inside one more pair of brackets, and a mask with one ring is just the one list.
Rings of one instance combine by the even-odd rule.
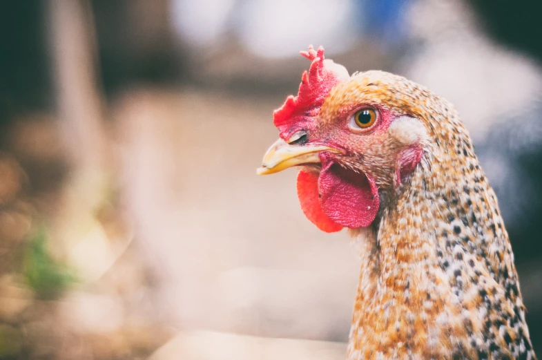
[[287, 138], [293, 131], [308, 128], [331, 88], [349, 77], [344, 66], [331, 60], [324, 61], [322, 46], [314, 50], [310, 45], [308, 51], [300, 53], [312, 64], [309, 73], [306, 70], [303, 72], [298, 96], [289, 95], [282, 107], [273, 113], [273, 122], [282, 138]]

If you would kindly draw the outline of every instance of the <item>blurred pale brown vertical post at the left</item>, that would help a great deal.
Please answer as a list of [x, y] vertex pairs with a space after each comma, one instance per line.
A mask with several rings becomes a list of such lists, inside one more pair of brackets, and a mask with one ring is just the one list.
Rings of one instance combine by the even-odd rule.
[[52, 77], [57, 85], [59, 129], [70, 163], [52, 229], [79, 278], [104, 274], [128, 242], [113, 246], [97, 215], [108, 208], [109, 144], [97, 77], [97, 41], [89, 0], [49, 0]]

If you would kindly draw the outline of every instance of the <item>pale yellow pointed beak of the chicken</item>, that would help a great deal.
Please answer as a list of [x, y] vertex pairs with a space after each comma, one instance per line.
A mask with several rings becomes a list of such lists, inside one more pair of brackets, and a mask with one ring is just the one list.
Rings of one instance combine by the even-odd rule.
[[325, 145], [293, 145], [279, 139], [267, 150], [267, 153], [264, 155], [262, 167], [256, 169], [256, 173], [258, 175], [268, 175], [270, 173], [278, 173], [289, 167], [295, 167], [296, 165], [319, 164], [320, 157], [318, 154], [322, 151], [340, 153], [337, 149]]

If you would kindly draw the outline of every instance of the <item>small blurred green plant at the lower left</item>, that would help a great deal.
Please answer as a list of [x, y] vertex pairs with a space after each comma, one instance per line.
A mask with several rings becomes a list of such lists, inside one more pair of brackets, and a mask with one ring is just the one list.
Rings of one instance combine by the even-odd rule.
[[60, 263], [49, 254], [48, 236], [44, 227], [35, 231], [28, 241], [24, 254], [23, 274], [28, 286], [40, 299], [58, 299], [71, 285], [77, 282], [75, 271]]

